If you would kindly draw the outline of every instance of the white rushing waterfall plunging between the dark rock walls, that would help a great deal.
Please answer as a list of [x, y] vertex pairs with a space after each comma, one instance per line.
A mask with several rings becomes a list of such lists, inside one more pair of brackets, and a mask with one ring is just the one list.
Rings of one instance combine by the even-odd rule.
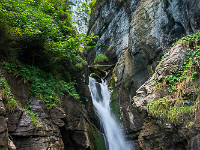
[[[100, 86], [100, 89], [98, 85]], [[126, 142], [122, 129], [111, 113], [111, 92], [109, 91], [106, 82], [102, 80], [102, 83], [97, 83], [95, 79], [90, 77], [89, 88], [92, 94], [93, 104], [96, 108], [96, 112], [104, 129], [107, 149], [133, 150], [131, 144]]]

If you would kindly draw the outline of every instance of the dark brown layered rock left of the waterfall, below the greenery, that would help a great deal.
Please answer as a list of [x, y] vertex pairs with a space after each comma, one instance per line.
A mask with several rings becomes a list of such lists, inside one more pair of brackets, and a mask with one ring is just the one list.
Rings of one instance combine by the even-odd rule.
[[[29, 97], [28, 84], [11, 74], [6, 74], [6, 79], [13, 96], [26, 107]], [[80, 101], [64, 97], [62, 105], [47, 110], [43, 101], [35, 97], [29, 100], [30, 111], [18, 105], [12, 111], [6, 112], [3, 104], [6, 102], [1, 98], [0, 149], [93, 149], [92, 126]]]

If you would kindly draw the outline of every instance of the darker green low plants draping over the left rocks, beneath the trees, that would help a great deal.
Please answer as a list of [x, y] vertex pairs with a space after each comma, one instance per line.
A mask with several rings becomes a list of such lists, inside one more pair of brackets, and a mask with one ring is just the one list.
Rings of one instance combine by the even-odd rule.
[[73, 82], [57, 80], [51, 73], [29, 65], [8, 62], [3, 62], [2, 65], [9, 73], [23, 77], [24, 82], [30, 84], [30, 95], [43, 100], [48, 109], [59, 104], [64, 94], [79, 99]]

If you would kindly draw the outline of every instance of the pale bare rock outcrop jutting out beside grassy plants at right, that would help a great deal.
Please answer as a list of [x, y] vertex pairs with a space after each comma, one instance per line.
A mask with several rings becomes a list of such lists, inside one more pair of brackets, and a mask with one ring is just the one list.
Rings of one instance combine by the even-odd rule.
[[155, 82], [180, 70], [187, 59], [187, 49], [186, 45], [179, 43], [164, 56], [152, 77], [136, 91], [136, 96], [134, 96], [133, 100], [137, 108], [146, 110], [147, 103], [158, 99], [152, 87]]

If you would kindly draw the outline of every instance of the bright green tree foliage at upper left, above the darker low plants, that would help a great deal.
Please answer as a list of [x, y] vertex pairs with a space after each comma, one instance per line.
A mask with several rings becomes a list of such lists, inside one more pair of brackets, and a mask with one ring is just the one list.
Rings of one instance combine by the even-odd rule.
[[5, 28], [9, 36], [0, 42], [3, 56], [46, 70], [56, 65], [79, 70], [86, 63], [80, 45], [90, 49], [96, 38], [76, 35], [68, 0], [2, 0], [0, 31]]

